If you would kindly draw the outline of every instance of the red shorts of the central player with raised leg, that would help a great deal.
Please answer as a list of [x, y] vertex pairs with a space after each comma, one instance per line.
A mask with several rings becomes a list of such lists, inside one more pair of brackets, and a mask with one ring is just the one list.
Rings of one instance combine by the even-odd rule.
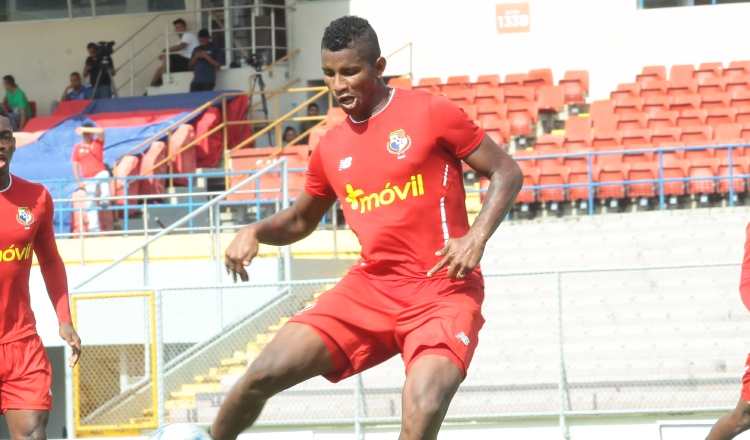
[[465, 280], [382, 280], [351, 272], [290, 322], [311, 326], [328, 347], [338, 382], [401, 354], [408, 374], [422, 356], [451, 360], [463, 377], [484, 324], [484, 286]]

